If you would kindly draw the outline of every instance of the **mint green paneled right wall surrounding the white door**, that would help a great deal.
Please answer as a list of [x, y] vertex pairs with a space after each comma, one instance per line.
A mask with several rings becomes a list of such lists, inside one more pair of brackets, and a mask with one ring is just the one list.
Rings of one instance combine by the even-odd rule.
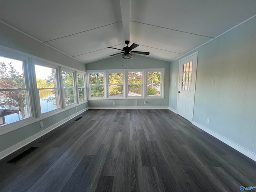
[[[196, 51], [194, 122], [256, 153], [256, 18], [192, 52]], [[180, 59], [171, 62], [169, 107], [173, 110]]]

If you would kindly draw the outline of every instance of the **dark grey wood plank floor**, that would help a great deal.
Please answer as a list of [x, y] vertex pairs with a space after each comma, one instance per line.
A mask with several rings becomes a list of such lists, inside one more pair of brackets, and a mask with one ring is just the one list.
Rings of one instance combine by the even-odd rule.
[[[0, 191], [236, 192], [256, 186], [256, 162], [170, 110], [80, 116], [0, 160]], [[6, 163], [30, 147], [38, 149]]]

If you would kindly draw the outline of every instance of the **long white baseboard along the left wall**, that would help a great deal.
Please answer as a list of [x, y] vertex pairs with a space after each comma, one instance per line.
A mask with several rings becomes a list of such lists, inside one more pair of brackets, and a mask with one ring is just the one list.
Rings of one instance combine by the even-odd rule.
[[60, 122], [58, 122], [58, 123], [56, 123], [56, 124], [54, 124], [54, 125], [48, 127], [48, 128], [46, 128], [45, 130], [42, 130], [41, 132], [39, 132], [39, 133], [37, 133], [37, 134], [35, 134], [35, 135], [33, 135], [33, 136], [31, 136], [31, 137], [25, 139], [25, 140], [23, 140], [22, 142], [19, 142], [19, 143], [15, 144], [14, 146], [11, 146], [10, 148], [8, 148], [8, 149], [6, 149], [6, 150], [0, 152], [0, 160], [1, 160], [2, 158], [4, 158], [4, 157], [10, 155], [11, 153], [15, 152], [16, 150], [18, 150], [18, 149], [20, 149], [20, 148], [26, 146], [27, 144], [31, 143], [32, 141], [34, 141], [34, 140], [40, 138], [40, 137], [43, 136], [44, 134], [46, 134], [46, 133], [48, 133], [48, 132], [54, 130], [54, 129], [57, 128], [58, 126], [64, 124], [64, 123], [67, 122], [68, 120], [74, 118], [75, 116], [78, 116], [79, 114], [81, 114], [82, 112], [85, 112], [85, 111], [88, 110], [88, 109], [89, 109], [89, 108], [87, 107], [87, 108], [85, 108], [85, 109], [79, 111], [78, 113], [76, 113], [76, 114], [74, 114], [74, 115], [72, 115], [72, 116], [70, 116], [70, 117], [68, 117], [68, 118], [66, 118], [66, 119], [64, 119], [64, 120], [62, 120], [62, 121], [60, 121]]

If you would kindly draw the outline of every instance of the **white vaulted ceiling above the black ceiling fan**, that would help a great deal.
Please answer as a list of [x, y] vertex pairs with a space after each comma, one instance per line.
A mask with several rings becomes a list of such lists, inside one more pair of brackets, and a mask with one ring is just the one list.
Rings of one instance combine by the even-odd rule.
[[172, 61], [255, 15], [256, 0], [0, 0], [2, 22], [84, 63], [127, 38]]

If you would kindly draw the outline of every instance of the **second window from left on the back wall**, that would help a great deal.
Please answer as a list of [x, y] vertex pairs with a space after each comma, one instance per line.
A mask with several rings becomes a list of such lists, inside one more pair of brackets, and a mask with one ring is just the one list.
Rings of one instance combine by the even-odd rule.
[[123, 96], [123, 73], [110, 72], [108, 74], [108, 96]]

